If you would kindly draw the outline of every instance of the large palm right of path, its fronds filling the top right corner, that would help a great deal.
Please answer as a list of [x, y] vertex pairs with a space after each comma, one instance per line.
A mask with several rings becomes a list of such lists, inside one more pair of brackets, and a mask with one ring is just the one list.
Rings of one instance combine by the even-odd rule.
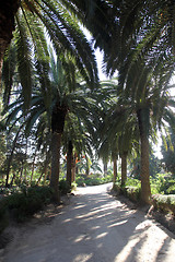
[[[154, 121], [156, 122], [159, 118], [159, 123], [162, 122], [158, 115], [164, 111], [164, 107], [161, 109], [161, 106], [164, 104], [165, 88], [175, 68], [174, 3], [172, 1], [98, 1], [97, 3], [92, 1], [93, 10], [90, 12], [84, 1], [73, 2], [78, 2], [79, 12], [83, 11], [82, 20], [92, 31], [96, 45], [105, 51], [106, 72], [113, 74], [119, 70], [121, 88], [118, 96], [121, 97], [122, 104], [132, 104], [135, 108], [141, 143], [142, 201], [148, 203], [151, 196], [150, 117], [154, 108]], [[107, 28], [107, 34], [103, 34], [100, 27], [96, 32], [96, 24], [98, 25], [100, 21], [96, 14], [100, 13], [105, 16], [104, 21], [107, 24], [104, 28]], [[96, 23], [90, 25], [90, 21]], [[156, 104], [158, 102], [161, 103]], [[164, 106], [166, 107], [165, 104]]]

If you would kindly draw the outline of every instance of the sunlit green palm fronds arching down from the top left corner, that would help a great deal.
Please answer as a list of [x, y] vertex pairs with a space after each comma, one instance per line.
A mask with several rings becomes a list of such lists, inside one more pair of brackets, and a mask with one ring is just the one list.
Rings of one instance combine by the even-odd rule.
[[[79, 26], [78, 19], [65, 7], [65, 1], [1, 1], [0, 7], [0, 84], [4, 50], [10, 43], [12, 45], [7, 51], [3, 66], [8, 95], [16, 71], [15, 51], [23, 96], [26, 107], [28, 106], [34, 84], [33, 66], [42, 75], [47, 74], [48, 71], [47, 41], [51, 41], [62, 61], [65, 57], [71, 57], [72, 63], [77, 63], [88, 84], [96, 85], [97, 69], [93, 50]], [[72, 64], [69, 63], [69, 67]]]

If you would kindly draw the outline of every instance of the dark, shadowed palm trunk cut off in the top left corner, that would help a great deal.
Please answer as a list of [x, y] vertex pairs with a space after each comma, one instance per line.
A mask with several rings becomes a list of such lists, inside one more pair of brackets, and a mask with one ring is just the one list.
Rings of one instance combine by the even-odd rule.
[[19, 9], [19, 0], [0, 1], [0, 85], [4, 51], [8, 48], [14, 31], [14, 15]]

